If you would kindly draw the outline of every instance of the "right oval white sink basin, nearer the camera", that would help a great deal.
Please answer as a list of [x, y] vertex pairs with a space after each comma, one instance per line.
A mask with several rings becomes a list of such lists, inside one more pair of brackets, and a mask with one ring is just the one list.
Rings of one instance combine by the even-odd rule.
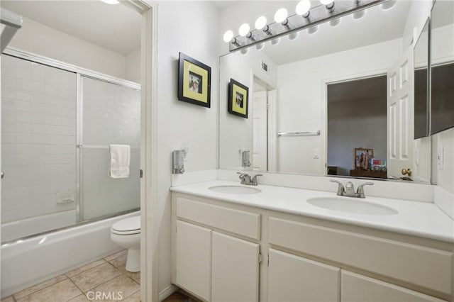
[[371, 203], [358, 198], [335, 198], [335, 197], [320, 197], [309, 198], [308, 203], [319, 208], [326, 208], [328, 210], [353, 213], [353, 214], [366, 214], [366, 215], [395, 215], [398, 212], [387, 206], [382, 206], [377, 203]]

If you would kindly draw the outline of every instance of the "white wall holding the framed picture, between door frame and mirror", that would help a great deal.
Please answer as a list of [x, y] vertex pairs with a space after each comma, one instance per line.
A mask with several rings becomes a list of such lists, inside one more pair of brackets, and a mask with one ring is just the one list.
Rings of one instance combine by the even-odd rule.
[[[175, 22], [178, 21], [178, 22]], [[216, 169], [218, 134], [218, 11], [209, 1], [168, 1], [157, 7], [157, 158], [160, 217], [159, 291], [171, 284], [172, 150], [188, 147], [186, 172]], [[211, 67], [211, 108], [178, 101], [178, 54]], [[155, 212], [156, 213], [156, 212]]]

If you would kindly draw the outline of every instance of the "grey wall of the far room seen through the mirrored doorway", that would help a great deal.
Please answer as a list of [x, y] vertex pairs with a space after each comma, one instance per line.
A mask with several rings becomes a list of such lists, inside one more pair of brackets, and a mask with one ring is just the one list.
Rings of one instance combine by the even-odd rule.
[[350, 175], [355, 169], [353, 150], [374, 150], [374, 157], [386, 160], [386, 98], [341, 101], [328, 105], [328, 166]]

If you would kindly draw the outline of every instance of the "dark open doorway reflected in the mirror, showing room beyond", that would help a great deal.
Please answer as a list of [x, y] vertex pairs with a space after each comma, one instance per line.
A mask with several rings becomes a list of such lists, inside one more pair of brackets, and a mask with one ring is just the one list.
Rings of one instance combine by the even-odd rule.
[[328, 84], [328, 174], [387, 178], [386, 89], [386, 75]]

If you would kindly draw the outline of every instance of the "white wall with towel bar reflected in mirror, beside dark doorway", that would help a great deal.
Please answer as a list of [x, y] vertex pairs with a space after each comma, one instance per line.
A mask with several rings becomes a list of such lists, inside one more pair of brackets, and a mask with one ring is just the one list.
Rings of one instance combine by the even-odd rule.
[[[324, 174], [326, 83], [383, 74], [401, 53], [402, 41], [397, 39], [279, 66], [277, 130], [321, 130], [320, 136], [279, 138], [279, 171]], [[312, 158], [314, 149], [319, 159]]]

